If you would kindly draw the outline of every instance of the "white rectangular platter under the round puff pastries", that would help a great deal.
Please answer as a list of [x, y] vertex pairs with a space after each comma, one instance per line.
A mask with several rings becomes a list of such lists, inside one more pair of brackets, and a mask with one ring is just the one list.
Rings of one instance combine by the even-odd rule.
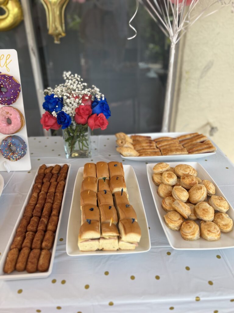
[[[217, 184], [214, 182], [212, 177], [207, 173], [207, 171], [197, 162], [170, 162], [168, 163], [170, 167], [175, 167], [178, 164], [188, 164], [194, 167], [197, 170], [197, 177], [203, 179], [207, 179], [211, 181], [214, 186], [215, 186], [215, 194], [217, 196], [222, 196], [226, 200], [227, 198], [223, 195]], [[164, 215], [166, 212], [162, 208], [162, 198], [158, 196], [157, 189], [158, 186], [154, 185], [152, 181], [152, 176], [153, 176], [153, 167], [155, 164], [147, 164], [147, 176], [149, 180], [149, 186], [152, 192], [152, 196], [154, 199], [154, 204], [156, 207], [156, 210], [158, 212], [158, 218], [162, 224], [164, 233], [168, 239], [168, 242], [170, 246], [173, 249], [178, 249], [178, 250], [209, 250], [209, 249], [225, 249], [225, 248], [233, 248], [234, 247], [234, 229], [232, 229], [231, 232], [229, 233], [222, 233], [221, 232], [221, 238], [217, 241], [207, 241], [203, 238], [199, 238], [194, 241], [187, 241], [184, 240], [181, 237], [180, 231], [175, 231], [167, 227], [165, 220], [164, 220]], [[209, 197], [208, 197], [209, 198]], [[227, 200], [228, 202], [228, 200]], [[234, 210], [231, 207], [230, 203], [229, 204], [229, 210], [227, 211], [227, 214], [234, 220]], [[198, 225], [200, 225], [200, 220], [195, 221]]]

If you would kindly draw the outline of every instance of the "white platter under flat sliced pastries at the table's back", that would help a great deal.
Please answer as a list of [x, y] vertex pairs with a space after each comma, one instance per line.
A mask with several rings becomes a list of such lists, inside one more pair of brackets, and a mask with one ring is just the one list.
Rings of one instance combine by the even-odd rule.
[[[158, 137], [178, 137], [181, 135], [185, 135], [189, 133], [146, 133], [146, 134], [136, 134], [142, 136], [151, 136], [152, 139]], [[134, 134], [131, 134], [134, 135]], [[131, 136], [129, 135], [129, 136]], [[198, 154], [184, 154], [184, 155], [176, 155], [176, 156], [122, 156], [123, 159], [131, 160], [131, 161], [144, 161], [144, 162], [165, 162], [165, 161], [179, 161], [179, 160], [194, 160], [200, 159], [202, 157], [207, 157], [214, 155], [216, 152], [208, 152], [208, 153], [198, 153]]]

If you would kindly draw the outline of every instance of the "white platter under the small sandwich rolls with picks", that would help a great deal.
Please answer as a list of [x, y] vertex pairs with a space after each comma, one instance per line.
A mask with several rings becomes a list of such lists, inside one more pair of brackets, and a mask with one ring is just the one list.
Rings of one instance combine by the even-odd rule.
[[140, 188], [134, 169], [130, 165], [124, 165], [124, 179], [126, 182], [129, 201], [137, 214], [137, 221], [141, 228], [141, 239], [135, 250], [117, 250], [117, 251], [90, 251], [81, 252], [78, 248], [78, 234], [81, 225], [80, 210], [80, 187], [83, 181], [84, 167], [80, 167], [76, 175], [76, 181], [71, 200], [71, 209], [67, 226], [66, 252], [70, 256], [87, 255], [105, 255], [105, 254], [132, 254], [147, 252], [150, 249], [149, 228], [145, 215], [144, 205], [141, 198]]

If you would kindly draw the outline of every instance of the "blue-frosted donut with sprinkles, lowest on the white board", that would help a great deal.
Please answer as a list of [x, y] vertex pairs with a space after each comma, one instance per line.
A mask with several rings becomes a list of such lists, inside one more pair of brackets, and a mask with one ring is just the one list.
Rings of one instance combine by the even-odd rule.
[[18, 161], [27, 152], [26, 142], [19, 136], [7, 136], [0, 145], [2, 156], [9, 161]]

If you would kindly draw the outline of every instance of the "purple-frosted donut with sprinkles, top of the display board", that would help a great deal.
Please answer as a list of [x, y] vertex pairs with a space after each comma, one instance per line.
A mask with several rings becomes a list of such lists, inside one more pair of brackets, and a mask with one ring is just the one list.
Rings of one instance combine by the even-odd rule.
[[0, 104], [11, 105], [16, 102], [21, 91], [20, 83], [8, 74], [0, 72]]

